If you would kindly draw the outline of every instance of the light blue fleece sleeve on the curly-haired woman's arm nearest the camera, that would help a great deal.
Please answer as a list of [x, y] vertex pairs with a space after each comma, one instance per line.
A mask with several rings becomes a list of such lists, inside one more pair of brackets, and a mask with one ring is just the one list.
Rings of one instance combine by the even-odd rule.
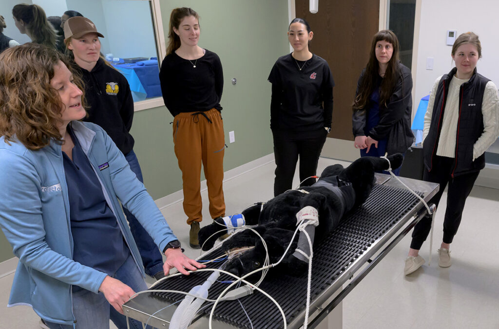
[[[28, 271], [34, 269], [97, 293], [106, 274], [54, 251], [45, 241], [46, 225], [53, 224], [53, 217], [60, 214], [42, 212], [41, 179], [35, 165], [22, 155], [2, 149], [0, 181], [9, 186], [0, 189], [0, 226], [19, 261]], [[65, 210], [54, 209], [57, 211]]]

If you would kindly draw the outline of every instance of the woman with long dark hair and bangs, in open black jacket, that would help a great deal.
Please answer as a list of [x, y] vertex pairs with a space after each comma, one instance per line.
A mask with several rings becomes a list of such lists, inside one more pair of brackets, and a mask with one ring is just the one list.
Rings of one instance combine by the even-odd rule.
[[[379, 31], [353, 102], [354, 147], [361, 157], [404, 154], [412, 145], [411, 90], [411, 70], [399, 61], [397, 36], [390, 30]], [[397, 175], [399, 171], [393, 170]]]

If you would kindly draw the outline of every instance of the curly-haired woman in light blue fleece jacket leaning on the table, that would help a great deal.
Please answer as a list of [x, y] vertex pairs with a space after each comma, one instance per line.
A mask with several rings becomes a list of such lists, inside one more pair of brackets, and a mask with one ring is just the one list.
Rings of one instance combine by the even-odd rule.
[[83, 93], [62, 55], [25, 44], [0, 62], [0, 226], [19, 258], [9, 305], [31, 305], [51, 329], [127, 328], [121, 305], [146, 285], [119, 201], [165, 253], [165, 273], [203, 265], [109, 136], [78, 121]]

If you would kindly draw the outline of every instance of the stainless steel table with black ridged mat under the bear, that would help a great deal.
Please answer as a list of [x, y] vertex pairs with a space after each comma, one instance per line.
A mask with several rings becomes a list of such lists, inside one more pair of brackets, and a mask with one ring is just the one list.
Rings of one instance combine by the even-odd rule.
[[[377, 184], [367, 201], [342, 220], [338, 228], [324, 241], [314, 246], [312, 261], [311, 303], [308, 328], [316, 328], [322, 320], [346, 297], [381, 259], [416, 225], [424, 216], [423, 203], [403, 187], [395, 178], [376, 174]], [[403, 178], [409, 187], [429, 201], [438, 191], [438, 184]], [[215, 250], [206, 259], [220, 256]], [[208, 267], [218, 267], [216, 263]], [[202, 284], [211, 272], [200, 272], [189, 277], [179, 276], [160, 283], [157, 289], [189, 291]], [[223, 275], [219, 280], [231, 280]], [[306, 303], [306, 274], [296, 278], [272, 276], [269, 271], [259, 288], [272, 296], [286, 315], [287, 328], [296, 329], [303, 325]], [[227, 287], [218, 284], [210, 290], [208, 298], [216, 299]], [[151, 289], [154, 289], [153, 287]], [[145, 293], [123, 305], [125, 315], [147, 322], [156, 328], [168, 328], [176, 305], [157, 312], [184, 295], [171, 293]], [[248, 312], [253, 327], [282, 328], [283, 322], [275, 305], [255, 291], [253, 295], [240, 299]], [[190, 329], [208, 328], [211, 307], [194, 318]], [[154, 315], [153, 315], [154, 314]], [[247, 316], [237, 301], [217, 305], [213, 328], [251, 328]]]

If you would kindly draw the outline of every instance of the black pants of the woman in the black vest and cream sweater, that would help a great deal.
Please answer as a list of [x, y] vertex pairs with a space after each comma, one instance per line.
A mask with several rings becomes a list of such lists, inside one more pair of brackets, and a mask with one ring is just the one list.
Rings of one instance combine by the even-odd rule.
[[[447, 190], [447, 207], [444, 217], [444, 243], [452, 243], [461, 223], [466, 198], [470, 195], [473, 184], [475, 184], [475, 180], [480, 173], [480, 171], [476, 171], [452, 178], [451, 172], [454, 165], [454, 158], [435, 156], [433, 158], [432, 170], [427, 171], [425, 169], [423, 173], [423, 180], [440, 184], [438, 193], [430, 200], [431, 203], [437, 205], [437, 209], [445, 186], [449, 184]], [[411, 248], [416, 250], [421, 249], [423, 242], [430, 233], [431, 222], [432, 218], [426, 216], [416, 224], [412, 232]]]

